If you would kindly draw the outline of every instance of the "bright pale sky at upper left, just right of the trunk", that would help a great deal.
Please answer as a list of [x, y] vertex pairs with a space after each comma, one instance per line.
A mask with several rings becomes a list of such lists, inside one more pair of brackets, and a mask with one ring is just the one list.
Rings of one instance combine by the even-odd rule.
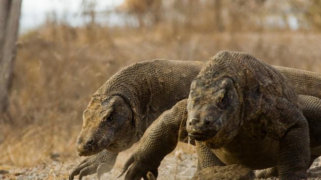
[[[123, 0], [96, 0], [96, 10], [106, 10], [120, 5]], [[42, 24], [53, 11], [72, 25], [82, 24], [79, 18], [82, 0], [22, 0], [20, 30], [30, 30]]]

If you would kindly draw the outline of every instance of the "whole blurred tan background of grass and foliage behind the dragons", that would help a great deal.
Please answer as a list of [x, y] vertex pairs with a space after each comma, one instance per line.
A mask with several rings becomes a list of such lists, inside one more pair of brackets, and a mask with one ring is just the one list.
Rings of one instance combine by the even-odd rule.
[[[51, 12], [20, 34], [0, 165], [79, 158], [74, 144], [91, 94], [133, 62], [208, 60], [229, 49], [321, 72], [320, 0], [124, 0], [99, 12], [98, 1], [82, 0], [81, 25]], [[118, 23], [101, 23], [111, 18]]]

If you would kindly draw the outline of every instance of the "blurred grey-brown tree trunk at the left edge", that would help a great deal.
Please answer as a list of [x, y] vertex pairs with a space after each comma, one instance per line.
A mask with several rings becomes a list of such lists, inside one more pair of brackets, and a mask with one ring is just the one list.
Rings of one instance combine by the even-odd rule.
[[0, 118], [8, 106], [22, 0], [0, 0]]

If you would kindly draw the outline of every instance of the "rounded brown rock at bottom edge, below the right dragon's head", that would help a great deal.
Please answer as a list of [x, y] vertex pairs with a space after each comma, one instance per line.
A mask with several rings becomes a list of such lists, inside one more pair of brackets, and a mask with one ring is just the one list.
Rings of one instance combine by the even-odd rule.
[[197, 172], [192, 180], [254, 180], [254, 171], [243, 165], [211, 166]]

